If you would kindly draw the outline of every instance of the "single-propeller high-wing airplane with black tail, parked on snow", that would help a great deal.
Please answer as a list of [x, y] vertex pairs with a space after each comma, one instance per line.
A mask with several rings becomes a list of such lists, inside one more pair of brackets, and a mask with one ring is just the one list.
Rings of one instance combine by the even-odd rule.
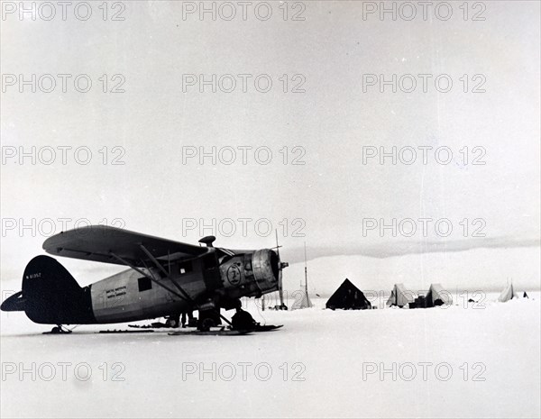
[[[66, 324], [126, 323], [198, 310], [197, 329], [208, 331], [220, 309], [240, 308], [243, 296], [261, 297], [281, 289], [280, 250], [229, 250], [214, 247], [215, 236], [199, 245], [170, 241], [105, 225], [60, 232], [43, 242], [51, 255], [124, 265], [129, 269], [79, 287], [57, 260], [40, 255], [23, 274], [22, 291], [8, 297], [2, 311], [24, 311], [34, 323], [56, 324], [51, 332], [70, 332]], [[205, 244], [206, 246], [202, 246]]]

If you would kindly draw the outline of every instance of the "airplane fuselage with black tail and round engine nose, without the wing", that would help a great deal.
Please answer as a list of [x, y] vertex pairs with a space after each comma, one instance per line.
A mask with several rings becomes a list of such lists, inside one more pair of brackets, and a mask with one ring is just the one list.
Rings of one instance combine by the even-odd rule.
[[196, 258], [159, 265], [133, 267], [78, 287], [57, 260], [38, 256], [24, 271], [22, 295], [5, 300], [2, 309], [24, 310], [35, 323], [124, 323], [233, 308], [242, 296], [279, 287], [280, 260], [273, 250], [234, 253], [209, 247]]

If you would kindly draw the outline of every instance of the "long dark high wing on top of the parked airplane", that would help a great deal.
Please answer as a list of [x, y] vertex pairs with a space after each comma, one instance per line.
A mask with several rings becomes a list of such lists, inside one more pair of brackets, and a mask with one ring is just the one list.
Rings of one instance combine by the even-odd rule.
[[43, 250], [66, 258], [142, 268], [151, 257], [161, 261], [188, 259], [206, 253], [208, 248], [106, 225], [88, 225], [50, 237], [43, 242]]

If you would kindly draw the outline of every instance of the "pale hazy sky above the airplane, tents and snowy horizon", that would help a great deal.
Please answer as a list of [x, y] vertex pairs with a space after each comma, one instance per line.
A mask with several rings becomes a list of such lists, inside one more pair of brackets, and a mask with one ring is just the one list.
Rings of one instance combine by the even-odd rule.
[[[226, 20], [207, 2], [213, 20], [189, 13], [198, 2], [110, 2], [104, 20], [90, 2], [86, 21], [56, 2], [51, 20], [8, 13], [18, 3], [0, 21], [2, 281], [52, 232], [107, 223], [233, 249], [274, 246], [278, 230], [291, 262], [305, 241], [310, 260], [424, 254], [438, 267], [438, 253], [475, 249], [504, 266], [514, 249], [538, 287], [539, 3], [470, 3], [464, 20], [451, 2], [443, 20], [413, 2], [406, 20], [388, 2], [393, 20], [368, 13], [380, 2], [270, 2], [268, 20], [266, 6], [243, 20], [231, 2]], [[505, 280], [488, 270], [480, 283]]]

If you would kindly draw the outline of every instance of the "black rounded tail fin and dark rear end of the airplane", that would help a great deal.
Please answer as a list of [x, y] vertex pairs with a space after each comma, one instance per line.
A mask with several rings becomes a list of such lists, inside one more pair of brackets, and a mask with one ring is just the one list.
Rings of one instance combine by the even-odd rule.
[[95, 323], [90, 288], [79, 287], [67, 269], [49, 256], [36, 256], [24, 269], [24, 312], [35, 323]]

